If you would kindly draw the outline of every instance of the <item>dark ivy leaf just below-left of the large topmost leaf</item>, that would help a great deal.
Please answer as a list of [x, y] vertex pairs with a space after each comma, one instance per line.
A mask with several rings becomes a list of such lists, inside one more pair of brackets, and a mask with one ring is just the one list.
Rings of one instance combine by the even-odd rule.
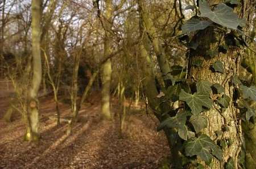
[[210, 24], [211, 22], [209, 22], [208, 20], [199, 20], [191, 18], [181, 26], [181, 30], [183, 33], [203, 30], [207, 28]]

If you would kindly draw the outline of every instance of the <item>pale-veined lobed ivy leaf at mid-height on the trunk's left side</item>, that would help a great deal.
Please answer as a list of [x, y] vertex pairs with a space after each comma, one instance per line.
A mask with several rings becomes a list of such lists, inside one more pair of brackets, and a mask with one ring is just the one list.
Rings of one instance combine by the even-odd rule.
[[212, 108], [212, 100], [209, 98], [209, 94], [196, 92], [195, 94], [188, 94], [184, 90], [180, 92], [180, 100], [185, 101], [189, 108], [191, 108], [193, 115], [198, 115], [203, 109], [202, 106]]

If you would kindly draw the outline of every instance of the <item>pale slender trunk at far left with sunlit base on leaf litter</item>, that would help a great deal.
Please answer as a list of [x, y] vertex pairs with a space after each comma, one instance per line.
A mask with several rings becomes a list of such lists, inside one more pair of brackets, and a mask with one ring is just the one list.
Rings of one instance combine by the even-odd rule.
[[25, 140], [39, 140], [39, 100], [37, 98], [41, 79], [42, 64], [40, 52], [42, 1], [32, 0], [32, 71], [33, 77], [28, 93], [28, 126]]

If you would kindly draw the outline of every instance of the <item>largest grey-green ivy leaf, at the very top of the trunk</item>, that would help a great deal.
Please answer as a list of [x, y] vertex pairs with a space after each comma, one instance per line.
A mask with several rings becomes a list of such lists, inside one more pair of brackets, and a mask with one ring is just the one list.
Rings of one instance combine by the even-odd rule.
[[212, 11], [207, 1], [199, 1], [199, 10], [201, 12], [201, 16], [207, 17], [223, 27], [237, 29], [240, 24], [240, 22], [238, 22], [240, 19], [238, 18], [238, 15], [235, 14], [233, 9], [225, 3], [220, 3], [214, 8], [214, 11]]

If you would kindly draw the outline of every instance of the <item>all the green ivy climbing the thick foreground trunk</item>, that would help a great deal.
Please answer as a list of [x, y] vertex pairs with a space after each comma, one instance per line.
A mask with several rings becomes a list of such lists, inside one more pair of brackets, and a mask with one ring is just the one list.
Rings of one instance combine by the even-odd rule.
[[[199, 0], [198, 8], [193, 5], [185, 7], [185, 10], [198, 10], [200, 15], [193, 16], [183, 24], [181, 30], [184, 36], [179, 38], [180, 41], [184, 42], [188, 48], [196, 50], [199, 44], [189, 41], [189, 33], [200, 32], [208, 27], [217, 27], [226, 33], [225, 37], [228, 40], [226, 40], [226, 44], [219, 45], [217, 51], [208, 51], [210, 57], [214, 57], [220, 52], [226, 53], [230, 45], [235, 45], [239, 48], [247, 47], [242, 32], [242, 27], [245, 26], [245, 19], [239, 18], [233, 12], [233, 7], [238, 6], [239, 3], [237, 0], [228, 0], [224, 3], [209, 6], [207, 1]], [[229, 43], [229, 41], [232, 41], [232, 43]], [[201, 67], [203, 62], [204, 60], [200, 59], [194, 60], [192, 66]], [[221, 61], [214, 62], [211, 67], [214, 72], [225, 73], [224, 64]], [[232, 98], [224, 94], [225, 88], [222, 84], [212, 84], [208, 81], [187, 81], [180, 77], [184, 71], [188, 70], [178, 65], [172, 66], [171, 69], [171, 74], [179, 78], [178, 80], [172, 79], [174, 84], [169, 86], [161, 95], [158, 95], [158, 98], [162, 98], [164, 102], [167, 100], [170, 102], [180, 100], [184, 104], [183, 107], [175, 109], [175, 116], [162, 121], [158, 126], [158, 130], [164, 127], [175, 128], [179, 137], [184, 140], [183, 155], [185, 157], [197, 156], [203, 159], [206, 164], [210, 164], [213, 158], [223, 161], [223, 149], [229, 146], [232, 140], [223, 138], [218, 140], [216, 144], [210, 137], [201, 134], [201, 131], [208, 126], [208, 117], [203, 115], [203, 112], [216, 108], [216, 104], [221, 109], [228, 108], [230, 104], [234, 104], [237, 108], [243, 109], [243, 119], [249, 121], [255, 117], [255, 109], [250, 107], [249, 102], [250, 100], [256, 101], [256, 88], [246, 86], [237, 75], [234, 75], [232, 83], [240, 96], [238, 97], [239, 99], [232, 100]], [[195, 86], [195, 88], [192, 88], [192, 86]], [[228, 130], [228, 126], [224, 126], [223, 130], [216, 131], [216, 135], [221, 137], [223, 132]], [[233, 158], [229, 158], [224, 166], [225, 168], [234, 168]], [[202, 165], [197, 163], [197, 168], [200, 167]]]

